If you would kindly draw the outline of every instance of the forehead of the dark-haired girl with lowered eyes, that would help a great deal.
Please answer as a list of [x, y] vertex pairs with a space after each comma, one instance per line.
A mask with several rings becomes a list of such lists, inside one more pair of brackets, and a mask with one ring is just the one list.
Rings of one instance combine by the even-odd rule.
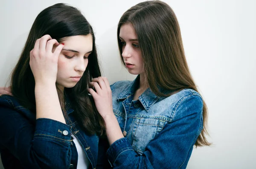
[[64, 43], [64, 49], [72, 49], [83, 54], [93, 50], [93, 37], [91, 34], [67, 37], [62, 43]]

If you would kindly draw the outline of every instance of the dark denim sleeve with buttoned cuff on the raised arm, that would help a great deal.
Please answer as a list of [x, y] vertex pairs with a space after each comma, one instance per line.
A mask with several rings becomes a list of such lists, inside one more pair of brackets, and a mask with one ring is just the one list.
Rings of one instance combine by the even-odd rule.
[[0, 147], [8, 149], [23, 168], [65, 169], [69, 166], [70, 126], [47, 118], [39, 118], [32, 124], [9, 107], [0, 107], [0, 112]]

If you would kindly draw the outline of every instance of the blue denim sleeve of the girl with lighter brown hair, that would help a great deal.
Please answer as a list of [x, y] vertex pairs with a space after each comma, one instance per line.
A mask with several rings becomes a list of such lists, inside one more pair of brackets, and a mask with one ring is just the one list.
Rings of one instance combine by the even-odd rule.
[[[115, 169], [183, 169], [202, 128], [203, 101], [200, 96], [180, 99], [172, 111], [172, 122], [138, 155], [127, 138], [115, 141], [107, 151]], [[185, 165], [183, 165], [185, 163]]]

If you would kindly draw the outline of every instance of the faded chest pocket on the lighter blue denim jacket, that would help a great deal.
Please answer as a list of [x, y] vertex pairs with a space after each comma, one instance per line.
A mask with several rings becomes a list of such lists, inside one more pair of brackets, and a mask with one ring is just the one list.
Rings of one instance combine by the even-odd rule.
[[152, 118], [137, 118], [132, 133], [132, 147], [143, 154], [145, 147], [154, 139], [158, 132], [163, 130], [166, 121]]

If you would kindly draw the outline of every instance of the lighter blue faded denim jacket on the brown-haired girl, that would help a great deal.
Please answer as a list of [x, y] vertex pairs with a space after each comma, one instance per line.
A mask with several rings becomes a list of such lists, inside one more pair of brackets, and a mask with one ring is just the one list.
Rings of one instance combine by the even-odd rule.
[[139, 76], [111, 85], [113, 112], [127, 134], [108, 149], [109, 162], [116, 169], [185, 169], [203, 129], [201, 96], [184, 89], [158, 97], [148, 88], [134, 101], [138, 84]]

